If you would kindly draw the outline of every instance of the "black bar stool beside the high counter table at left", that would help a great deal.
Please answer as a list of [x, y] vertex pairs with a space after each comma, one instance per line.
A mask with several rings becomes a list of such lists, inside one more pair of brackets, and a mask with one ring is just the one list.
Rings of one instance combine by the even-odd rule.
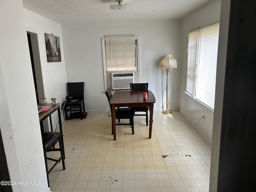
[[[43, 149], [44, 149], [44, 161], [46, 167], [46, 176], [49, 184], [49, 173], [53, 170], [53, 168], [62, 161], [62, 168], [65, 170], [65, 162], [64, 162], [64, 146], [62, 146], [61, 142], [61, 133], [60, 132], [41, 132], [42, 134], [42, 141], [43, 141]], [[59, 142], [59, 148], [56, 148], [56, 145], [53, 146], [56, 142]], [[60, 158], [53, 159], [46, 156], [46, 152], [49, 151], [60, 151]], [[48, 163], [47, 160], [54, 161], [54, 165], [48, 170]]]

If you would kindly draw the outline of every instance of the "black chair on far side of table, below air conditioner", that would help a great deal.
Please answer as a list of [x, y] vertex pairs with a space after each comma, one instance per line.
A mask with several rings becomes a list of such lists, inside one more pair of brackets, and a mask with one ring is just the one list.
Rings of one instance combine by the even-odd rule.
[[[147, 91], [148, 83], [130, 83], [131, 91]], [[145, 114], [136, 114], [136, 112], [145, 112]], [[148, 126], [148, 107], [135, 107], [134, 116], [146, 116], [146, 126]]]

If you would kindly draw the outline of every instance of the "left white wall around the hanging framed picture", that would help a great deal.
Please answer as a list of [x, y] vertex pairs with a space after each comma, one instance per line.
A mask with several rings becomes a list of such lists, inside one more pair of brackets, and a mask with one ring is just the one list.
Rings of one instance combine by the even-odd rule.
[[[62, 43], [62, 31], [60, 24], [48, 20], [34, 12], [24, 9], [26, 30], [36, 33], [38, 37], [39, 55], [44, 84], [44, 96], [47, 102], [51, 98], [57, 98], [57, 102], [62, 103], [67, 95], [66, 92], [66, 69], [64, 62], [64, 49]], [[44, 33], [54, 34], [60, 37], [61, 62], [47, 62]], [[40, 98], [39, 98], [39, 102]], [[63, 115], [62, 115], [62, 119]], [[54, 128], [58, 124], [57, 113], [52, 114]]]

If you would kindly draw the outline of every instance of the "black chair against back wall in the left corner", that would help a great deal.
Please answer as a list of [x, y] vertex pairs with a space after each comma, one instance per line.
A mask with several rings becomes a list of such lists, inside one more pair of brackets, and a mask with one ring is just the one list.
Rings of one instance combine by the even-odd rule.
[[65, 117], [68, 120], [68, 112], [70, 115], [72, 112], [79, 112], [81, 119], [84, 118], [83, 113], [85, 113], [84, 107], [84, 82], [68, 82], [68, 100], [64, 106]]

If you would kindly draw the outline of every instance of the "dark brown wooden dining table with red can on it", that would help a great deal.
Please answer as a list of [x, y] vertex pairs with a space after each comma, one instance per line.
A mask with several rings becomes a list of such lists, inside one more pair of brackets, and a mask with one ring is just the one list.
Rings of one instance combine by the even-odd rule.
[[[143, 93], [148, 93], [148, 99], [144, 100]], [[156, 98], [150, 91], [116, 91], [110, 98], [112, 108], [112, 126], [114, 140], [116, 140], [116, 107], [149, 107], [149, 136], [152, 134], [153, 109]]]

